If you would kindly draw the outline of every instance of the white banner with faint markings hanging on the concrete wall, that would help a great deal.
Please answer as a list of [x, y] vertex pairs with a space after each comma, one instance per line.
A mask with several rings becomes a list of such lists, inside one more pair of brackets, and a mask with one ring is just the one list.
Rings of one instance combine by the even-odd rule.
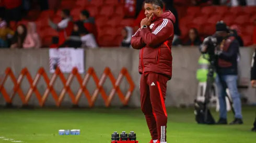
[[84, 49], [75, 48], [52, 48], [49, 50], [50, 72], [54, 73], [56, 67], [61, 72], [70, 73], [77, 68], [79, 73], [84, 73]]

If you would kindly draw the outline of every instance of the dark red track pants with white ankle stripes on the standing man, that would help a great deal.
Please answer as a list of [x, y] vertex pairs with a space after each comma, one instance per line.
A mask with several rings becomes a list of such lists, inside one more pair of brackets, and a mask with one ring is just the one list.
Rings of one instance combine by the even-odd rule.
[[153, 140], [166, 142], [167, 113], [165, 96], [168, 77], [157, 73], [141, 76], [141, 108]]

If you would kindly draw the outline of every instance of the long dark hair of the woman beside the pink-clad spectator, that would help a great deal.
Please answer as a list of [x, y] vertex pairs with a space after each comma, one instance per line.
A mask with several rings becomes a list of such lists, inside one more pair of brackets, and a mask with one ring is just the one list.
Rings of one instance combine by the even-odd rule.
[[[22, 27], [24, 30], [24, 32], [22, 34], [18, 33], [19, 26]], [[17, 27], [17, 30], [15, 31], [12, 43], [13, 44], [17, 43], [18, 48], [23, 48], [23, 43], [25, 41], [25, 38], [27, 37], [27, 28], [24, 24], [19, 24], [18, 27]], [[20, 42], [19, 42], [19, 39], [20, 39]]]

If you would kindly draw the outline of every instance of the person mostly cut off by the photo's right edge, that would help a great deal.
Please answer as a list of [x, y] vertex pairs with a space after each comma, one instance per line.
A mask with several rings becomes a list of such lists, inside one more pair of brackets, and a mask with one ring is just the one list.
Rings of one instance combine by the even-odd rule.
[[[251, 86], [252, 87], [256, 87], [256, 62], [254, 62], [256, 60], [256, 47], [255, 51], [253, 53], [253, 57], [252, 57], [252, 62], [251, 62]], [[251, 129], [253, 132], [256, 132], [256, 117], [255, 117], [255, 121], [253, 123], [253, 128]]]

